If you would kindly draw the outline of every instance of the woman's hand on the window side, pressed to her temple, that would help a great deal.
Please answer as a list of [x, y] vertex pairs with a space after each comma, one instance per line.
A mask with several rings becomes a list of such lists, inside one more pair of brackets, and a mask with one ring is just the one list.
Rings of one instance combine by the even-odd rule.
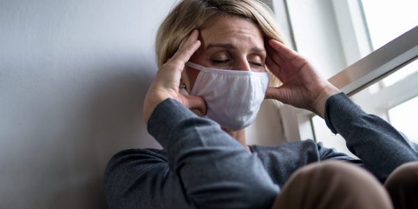
[[323, 117], [325, 101], [339, 89], [318, 75], [314, 67], [300, 54], [277, 40], [268, 40], [266, 64], [283, 85], [269, 87], [266, 98], [308, 109]]

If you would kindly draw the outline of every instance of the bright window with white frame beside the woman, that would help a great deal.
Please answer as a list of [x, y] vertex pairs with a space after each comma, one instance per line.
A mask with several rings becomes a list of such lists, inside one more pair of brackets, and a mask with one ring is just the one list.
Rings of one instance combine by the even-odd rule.
[[[404, 118], [418, 119], [418, 110], [411, 109], [418, 100], [417, 4], [416, 0], [272, 1], [293, 48], [357, 104], [410, 139], [418, 138]], [[323, 119], [287, 105], [280, 111], [286, 121], [286, 141], [314, 138], [349, 153], [345, 141], [332, 134]]]

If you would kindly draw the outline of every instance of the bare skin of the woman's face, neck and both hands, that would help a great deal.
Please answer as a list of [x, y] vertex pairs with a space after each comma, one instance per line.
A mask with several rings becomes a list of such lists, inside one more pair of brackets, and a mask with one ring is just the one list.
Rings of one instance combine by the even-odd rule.
[[[162, 65], [144, 101], [146, 123], [157, 104], [167, 98], [178, 100], [185, 107], [206, 114], [203, 98], [179, 93], [181, 83], [190, 92], [199, 74], [198, 70], [192, 68], [184, 70], [187, 61], [210, 68], [256, 72], [265, 71], [267, 65], [283, 85], [278, 88], [269, 87], [265, 98], [308, 109], [321, 117], [327, 98], [340, 92], [320, 77], [314, 67], [297, 52], [277, 40], [264, 42], [263, 33], [254, 22], [226, 15], [208, 22], [201, 29], [200, 36], [199, 31], [192, 31], [180, 44], [178, 52]], [[249, 149], [245, 144], [245, 130], [223, 130]]]

